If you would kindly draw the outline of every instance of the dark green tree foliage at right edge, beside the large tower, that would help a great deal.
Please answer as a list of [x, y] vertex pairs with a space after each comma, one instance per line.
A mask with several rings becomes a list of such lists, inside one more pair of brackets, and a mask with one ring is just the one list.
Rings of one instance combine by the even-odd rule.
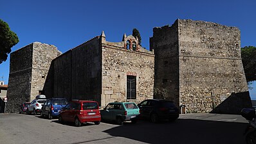
[[256, 81], [256, 47], [243, 47], [241, 49], [241, 55], [246, 81]]

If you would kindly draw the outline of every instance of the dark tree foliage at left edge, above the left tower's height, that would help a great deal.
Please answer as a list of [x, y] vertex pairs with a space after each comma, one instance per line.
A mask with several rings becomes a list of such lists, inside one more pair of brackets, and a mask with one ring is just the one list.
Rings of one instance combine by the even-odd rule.
[[7, 60], [11, 48], [19, 42], [19, 38], [10, 30], [8, 24], [0, 19], [0, 64]]

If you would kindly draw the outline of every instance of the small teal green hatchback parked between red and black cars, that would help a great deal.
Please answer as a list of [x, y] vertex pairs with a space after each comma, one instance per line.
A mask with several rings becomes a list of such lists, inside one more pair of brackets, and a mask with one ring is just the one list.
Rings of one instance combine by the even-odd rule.
[[119, 125], [122, 125], [123, 121], [136, 123], [140, 109], [134, 102], [111, 102], [100, 111], [100, 115], [102, 120], [116, 121]]

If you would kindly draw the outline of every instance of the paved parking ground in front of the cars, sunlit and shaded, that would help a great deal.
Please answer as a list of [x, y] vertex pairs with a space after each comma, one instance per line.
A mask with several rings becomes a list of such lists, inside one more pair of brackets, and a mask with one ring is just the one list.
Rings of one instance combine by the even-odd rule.
[[247, 121], [239, 115], [186, 114], [173, 123], [86, 124], [75, 127], [57, 119], [0, 113], [0, 143], [196, 143], [242, 144]]

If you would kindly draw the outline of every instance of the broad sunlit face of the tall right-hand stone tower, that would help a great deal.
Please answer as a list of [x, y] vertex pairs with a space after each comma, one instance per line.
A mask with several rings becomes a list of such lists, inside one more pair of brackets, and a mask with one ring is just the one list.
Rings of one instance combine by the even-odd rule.
[[213, 22], [178, 20], [180, 103], [209, 112], [231, 93], [248, 91], [240, 31]]

